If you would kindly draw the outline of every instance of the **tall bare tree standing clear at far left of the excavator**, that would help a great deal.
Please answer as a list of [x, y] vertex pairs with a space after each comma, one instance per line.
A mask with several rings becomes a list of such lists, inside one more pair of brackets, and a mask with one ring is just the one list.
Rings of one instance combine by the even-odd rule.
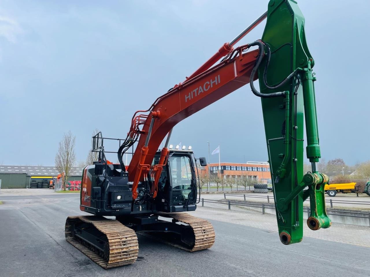
[[65, 182], [70, 176], [70, 170], [73, 167], [76, 155], [74, 146], [76, 137], [71, 131], [64, 133], [62, 140], [59, 142], [58, 152], [55, 155], [55, 167], [62, 174], [62, 189], [65, 190]]

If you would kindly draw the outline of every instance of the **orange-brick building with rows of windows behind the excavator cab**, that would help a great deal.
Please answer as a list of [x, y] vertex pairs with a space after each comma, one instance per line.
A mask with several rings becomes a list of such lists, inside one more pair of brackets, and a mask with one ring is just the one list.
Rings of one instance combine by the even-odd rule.
[[[209, 164], [209, 171], [211, 176], [219, 174], [219, 164]], [[205, 174], [208, 174], [208, 165], [205, 167]], [[259, 183], [271, 183], [270, 164], [267, 162], [221, 163], [221, 175], [223, 178], [250, 178]]]

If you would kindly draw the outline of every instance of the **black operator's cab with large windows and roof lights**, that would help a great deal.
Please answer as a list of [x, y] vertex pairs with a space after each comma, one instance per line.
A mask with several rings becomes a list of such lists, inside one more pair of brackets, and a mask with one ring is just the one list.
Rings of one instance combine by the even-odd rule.
[[[161, 152], [154, 157], [158, 163]], [[156, 204], [161, 212], [195, 211], [196, 172], [191, 150], [170, 150], [158, 182]]]

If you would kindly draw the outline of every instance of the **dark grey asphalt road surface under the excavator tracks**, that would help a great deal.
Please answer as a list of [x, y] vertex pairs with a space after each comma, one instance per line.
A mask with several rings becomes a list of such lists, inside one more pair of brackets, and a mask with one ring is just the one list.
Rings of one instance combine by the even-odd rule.
[[[211, 220], [216, 243], [187, 253], [139, 236], [139, 259], [103, 270], [64, 239], [79, 195], [0, 197], [0, 276], [366, 276], [369, 248], [305, 237], [285, 246], [276, 232]], [[209, 209], [212, 212], [211, 209]], [[217, 211], [214, 211], [217, 213]]]

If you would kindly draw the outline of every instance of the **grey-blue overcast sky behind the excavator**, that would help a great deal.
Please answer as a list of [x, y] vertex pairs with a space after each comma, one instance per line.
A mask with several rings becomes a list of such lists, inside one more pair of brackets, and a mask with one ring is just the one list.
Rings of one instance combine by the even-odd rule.
[[[194, 72], [268, 1], [1, 1], [0, 163], [53, 165], [64, 132], [85, 160], [95, 128], [126, 136], [136, 110]], [[326, 159], [370, 159], [370, 1], [299, 1]], [[239, 44], [261, 38], [265, 21]], [[257, 82], [256, 82], [257, 83]], [[267, 161], [249, 85], [175, 126], [171, 143], [221, 161]], [[114, 149], [116, 150], [116, 149]], [[217, 155], [211, 162], [218, 161]], [[115, 158], [112, 158], [116, 161]]]

